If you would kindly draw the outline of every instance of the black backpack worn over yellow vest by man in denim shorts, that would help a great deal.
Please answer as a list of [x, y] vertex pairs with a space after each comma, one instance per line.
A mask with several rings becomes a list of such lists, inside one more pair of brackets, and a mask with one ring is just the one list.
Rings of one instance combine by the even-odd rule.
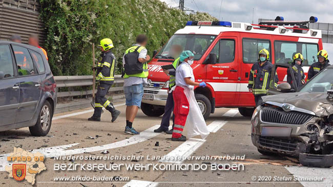
[[124, 56], [125, 59], [125, 73], [127, 75], [134, 75], [139, 74], [143, 72], [143, 63], [139, 61], [139, 52], [138, 49], [140, 46], [138, 46], [133, 52], [130, 52]]

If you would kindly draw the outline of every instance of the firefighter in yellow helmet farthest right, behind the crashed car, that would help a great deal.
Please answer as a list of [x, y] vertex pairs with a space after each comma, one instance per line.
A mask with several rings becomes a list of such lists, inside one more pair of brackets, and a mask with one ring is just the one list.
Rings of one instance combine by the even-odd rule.
[[307, 73], [307, 81], [313, 78], [316, 74], [329, 66], [328, 53], [326, 50], [320, 50], [317, 54], [318, 62], [313, 63]]

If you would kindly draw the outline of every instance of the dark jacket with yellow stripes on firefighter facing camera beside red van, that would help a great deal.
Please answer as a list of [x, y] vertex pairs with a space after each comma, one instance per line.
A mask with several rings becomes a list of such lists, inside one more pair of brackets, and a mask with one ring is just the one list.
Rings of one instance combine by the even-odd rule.
[[[273, 64], [269, 61], [266, 61], [263, 65], [260, 65], [260, 62], [253, 64], [247, 87], [252, 88], [252, 93], [254, 95], [267, 95], [272, 67]], [[279, 79], [277, 74], [275, 76], [274, 87], [277, 87]]]

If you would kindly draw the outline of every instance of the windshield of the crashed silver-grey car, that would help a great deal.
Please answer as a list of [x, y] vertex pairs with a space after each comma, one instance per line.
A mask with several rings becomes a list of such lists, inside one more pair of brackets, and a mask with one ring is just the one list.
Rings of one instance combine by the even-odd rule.
[[326, 68], [310, 80], [300, 92], [326, 92], [333, 89], [333, 68]]

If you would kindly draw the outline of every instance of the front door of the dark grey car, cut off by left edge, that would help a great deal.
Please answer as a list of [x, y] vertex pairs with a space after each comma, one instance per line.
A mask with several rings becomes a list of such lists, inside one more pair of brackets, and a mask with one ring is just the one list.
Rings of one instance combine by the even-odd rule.
[[12, 53], [9, 45], [0, 45], [0, 126], [15, 123], [19, 106], [19, 86], [14, 74]]

